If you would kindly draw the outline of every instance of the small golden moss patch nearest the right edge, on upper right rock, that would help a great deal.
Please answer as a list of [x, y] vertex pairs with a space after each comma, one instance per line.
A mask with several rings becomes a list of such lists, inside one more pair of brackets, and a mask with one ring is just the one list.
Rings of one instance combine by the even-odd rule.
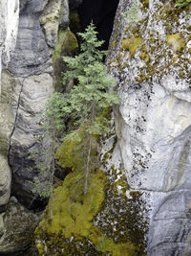
[[180, 33], [167, 35], [167, 43], [175, 52], [178, 52], [185, 48], [185, 42], [182, 35], [180, 35]]

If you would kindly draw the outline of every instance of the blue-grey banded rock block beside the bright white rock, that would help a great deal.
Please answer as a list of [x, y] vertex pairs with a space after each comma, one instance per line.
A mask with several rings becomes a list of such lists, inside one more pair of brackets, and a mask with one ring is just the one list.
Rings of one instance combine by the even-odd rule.
[[39, 18], [24, 13], [19, 18], [16, 48], [9, 70], [15, 76], [40, 74], [51, 65], [48, 61], [50, 58], [51, 52], [40, 27]]

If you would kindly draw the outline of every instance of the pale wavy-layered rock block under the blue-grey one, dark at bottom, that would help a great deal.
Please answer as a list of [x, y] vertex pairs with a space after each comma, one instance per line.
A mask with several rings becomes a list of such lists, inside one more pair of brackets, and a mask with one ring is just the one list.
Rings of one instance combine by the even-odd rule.
[[[45, 82], [46, 81], [46, 82]], [[11, 136], [10, 164], [13, 172], [12, 193], [29, 208], [34, 207], [31, 192], [34, 162], [29, 159], [29, 150], [40, 148], [43, 151], [43, 129], [40, 127], [41, 114], [45, 103], [53, 93], [53, 77], [43, 73], [21, 81], [22, 91], [19, 97], [16, 124]], [[46, 145], [46, 144], [45, 144]], [[38, 161], [38, 159], [35, 159]], [[33, 172], [29, 172], [29, 168]]]

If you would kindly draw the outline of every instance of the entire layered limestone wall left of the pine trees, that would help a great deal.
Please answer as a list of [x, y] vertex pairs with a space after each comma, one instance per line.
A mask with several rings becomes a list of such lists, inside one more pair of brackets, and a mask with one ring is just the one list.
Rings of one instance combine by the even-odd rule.
[[37, 173], [28, 171], [34, 165], [29, 151], [46, 147], [40, 114], [53, 92], [53, 50], [58, 27], [68, 27], [69, 5], [8, 0], [0, 10], [0, 205], [8, 202], [12, 183], [12, 193], [30, 208], [35, 201], [30, 180]]

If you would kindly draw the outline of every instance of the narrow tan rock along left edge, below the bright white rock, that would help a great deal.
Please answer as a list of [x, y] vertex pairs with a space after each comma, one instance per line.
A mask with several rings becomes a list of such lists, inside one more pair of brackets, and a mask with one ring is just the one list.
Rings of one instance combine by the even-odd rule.
[[11, 193], [11, 169], [8, 164], [11, 133], [16, 114], [16, 81], [5, 71], [2, 73], [0, 98], [0, 206], [5, 205]]

